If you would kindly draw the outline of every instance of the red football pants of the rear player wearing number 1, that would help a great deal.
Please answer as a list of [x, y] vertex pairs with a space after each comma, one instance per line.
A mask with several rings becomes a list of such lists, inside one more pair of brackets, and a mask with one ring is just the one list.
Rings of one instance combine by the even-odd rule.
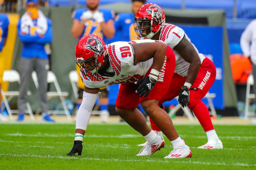
[[[209, 110], [201, 99], [209, 91], [210, 87], [216, 78], [216, 68], [213, 62], [205, 58], [199, 68], [197, 77], [190, 88], [189, 99], [190, 103], [188, 107], [192, 109], [195, 116], [199, 120], [200, 124], [204, 128], [204, 131], [213, 130], [213, 124], [209, 115]], [[182, 77], [178, 74], [174, 74], [171, 80], [170, 88], [166, 96], [164, 96], [159, 104], [174, 99], [180, 93], [180, 87], [184, 85], [186, 77]], [[156, 128], [156, 124], [150, 120], [150, 125], [153, 130], [159, 130]]]

